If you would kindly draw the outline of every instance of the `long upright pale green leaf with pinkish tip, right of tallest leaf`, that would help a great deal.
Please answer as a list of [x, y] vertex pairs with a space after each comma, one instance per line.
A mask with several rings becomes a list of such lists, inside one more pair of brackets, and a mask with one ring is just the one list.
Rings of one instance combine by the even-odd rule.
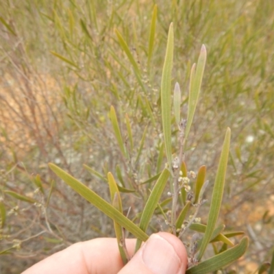
[[195, 64], [192, 66], [190, 74], [190, 90], [188, 97], [188, 121], [186, 124], [185, 138], [188, 138], [190, 127], [195, 114], [197, 102], [199, 99], [199, 92], [201, 89], [201, 81], [203, 79], [203, 71], [206, 66], [206, 47], [201, 46], [197, 69], [195, 71]]

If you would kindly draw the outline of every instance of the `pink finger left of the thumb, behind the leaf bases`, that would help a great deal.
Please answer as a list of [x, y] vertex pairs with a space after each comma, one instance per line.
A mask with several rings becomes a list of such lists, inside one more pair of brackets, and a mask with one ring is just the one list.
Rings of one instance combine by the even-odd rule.
[[[136, 239], [126, 239], [129, 256], [133, 256]], [[97, 238], [78, 242], [22, 274], [116, 274], [123, 267], [116, 238]]]

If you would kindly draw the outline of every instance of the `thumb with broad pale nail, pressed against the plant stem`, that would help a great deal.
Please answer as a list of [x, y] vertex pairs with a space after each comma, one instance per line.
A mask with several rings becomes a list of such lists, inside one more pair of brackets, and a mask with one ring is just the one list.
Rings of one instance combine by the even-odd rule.
[[182, 241], [170, 233], [159, 232], [149, 237], [119, 274], [184, 274], [186, 266]]

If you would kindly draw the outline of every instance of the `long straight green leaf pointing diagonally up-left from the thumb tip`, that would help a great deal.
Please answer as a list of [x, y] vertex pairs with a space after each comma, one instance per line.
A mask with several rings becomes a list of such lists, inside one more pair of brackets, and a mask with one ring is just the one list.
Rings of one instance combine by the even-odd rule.
[[87, 186], [79, 182], [77, 179], [60, 169], [60, 167], [55, 166], [55, 164], [49, 163], [50, 169], [64, 180], [66, 184], [71, 186], [79, 195], [84, 197], [87, 201], [92, 203], [93, 206], [101, 210], [105, 215], [109, 216], [113, 221], [116, 221], [122, 227], [125, 227], [130, 233], [132, 233], [136, 238], [140, 238], [142, 241], [146, 241], [149, 236], [145, 234], [137, 225], [132, 223], [127, 219], [119, 210], [116, 210], [110, 203], [102, 199], [94, 191], [90, 190]]

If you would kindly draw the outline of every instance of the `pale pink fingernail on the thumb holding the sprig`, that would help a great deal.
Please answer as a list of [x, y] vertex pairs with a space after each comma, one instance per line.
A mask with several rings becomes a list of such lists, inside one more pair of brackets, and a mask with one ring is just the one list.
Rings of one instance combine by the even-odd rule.
[[176, 274], [181, 266], [173, 246], [158, 234], [152, 234], [145, 243], [142, 260], [154, 274]]

